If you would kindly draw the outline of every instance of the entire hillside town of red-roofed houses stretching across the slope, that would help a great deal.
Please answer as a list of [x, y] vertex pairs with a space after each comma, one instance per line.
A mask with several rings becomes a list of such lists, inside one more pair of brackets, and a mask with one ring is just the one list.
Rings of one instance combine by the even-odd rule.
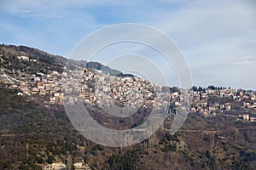
[[[26, 56], [18, 56], [19, 60], [35, 63], [36, 59]], [[2, 59], [3, 60], [3, 59]], [[65, 68], [64, 68], [65, 70]], [[70, 71], [70, 70], [68, 70]], [[166, 87], [155, 85], [139, 77], [115, 77], [102, 73], [96, 69], [84, 68], [72, 74], [79, 80], [65, 79], [67, 72], [48, 71], [36, 74], [15, 74], [11, 77], [6, 69], [3, 72], [2, 82], [9, 88], [19, 88], [17, 95], [39, 95], [43, 97], [45, 105], [63, 104], [64, 94], [75, 90], [79, 97], [84, 99], [85, 104], [129, 106], [131, 108], [161, 107], [170, 105], [170, 113], [175, 114], [184, 102], [189, 103], [189, 94], [193, 93], [190, 113], [201, 116], [217, 116], [218, 114], [231, 114], [237, 116], [238, 121], [255, 122], [256, 117], [256, 93], [242, 89], [217, 88], [195, 88], [183, 90], [175, 88], [169, 90]], [[70, 74], [70, 73], [69, 73]], [[69, 75], [70, 76], [70, 75]], [[61, 79], [62, 78], [62, 79]], [[76, 87], [68, 85], [61, 91], [61, 81], [77, 81]], [[73, 88], [73, 89], [72, 89]], [[235, 113], [234, 113], [235, 111]]]

